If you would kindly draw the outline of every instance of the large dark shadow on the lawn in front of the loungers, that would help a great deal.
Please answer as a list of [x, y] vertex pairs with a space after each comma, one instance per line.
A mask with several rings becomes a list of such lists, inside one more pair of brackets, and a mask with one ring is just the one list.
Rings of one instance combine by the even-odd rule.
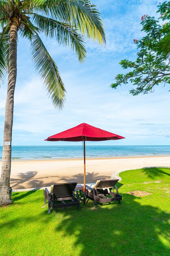
[[55, 230], [74, 237], [73, 247], [82, 248], [80, 255], [168, 255], [162, 241], [168, 241], [170, 216], [156, 207], [142, 206], [140, 200], [124, 194], [121, 205], [115, 202], [94, 209], [89, 201], [80, 211], [60, 211], [62, 221]]

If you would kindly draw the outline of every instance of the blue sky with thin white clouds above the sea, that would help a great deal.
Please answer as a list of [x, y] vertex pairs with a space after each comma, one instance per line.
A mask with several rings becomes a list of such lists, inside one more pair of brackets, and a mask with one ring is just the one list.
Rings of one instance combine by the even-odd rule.
[[[137, 49], [133, 38], [143, 35], [141, 17], [144, 14], [157, 16], [159, 1], [92, 2], [102, 13], [107, 45], [87, 41], [87, 58], [83, 64], [78, 63], [76, 54], [69, 47], [61, 47], [55, 40], [43, 38], [67, 90], [61, 112], [54, 109], [35, 74], [28, 42], [19, 40], [13, 145], [71, 145], [44, 139], [82, 122], [126, 137], [118, 141], [103, 141], [100, 145], [170, 145], [169, 85], [157, 86], [154, 93], [135, 97], [128, 92], [131, 85], [116, 90], [109, 87], [116, 74], [122, 72], [119, 62], [125, 58], [135, 60]], [[0, 145], [6, 93], [7, 82], [0, 88]]]

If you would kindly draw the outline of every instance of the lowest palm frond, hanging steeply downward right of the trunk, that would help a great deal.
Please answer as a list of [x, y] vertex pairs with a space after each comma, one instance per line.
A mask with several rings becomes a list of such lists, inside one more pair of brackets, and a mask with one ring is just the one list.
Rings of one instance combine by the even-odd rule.
[[65, 102], [65, 88], [56, 63], [51, 58], [37, 34], [31, 39], [31, 54], [35, 69], [44, 81], [44, 86], [56, 108], [62, 109]]

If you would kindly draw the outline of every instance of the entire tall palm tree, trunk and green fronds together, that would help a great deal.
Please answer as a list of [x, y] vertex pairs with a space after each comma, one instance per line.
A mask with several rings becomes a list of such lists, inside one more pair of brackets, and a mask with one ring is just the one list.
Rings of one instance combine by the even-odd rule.
[[44, 82], [56, 108], [63, 108], [65, 88], [56, 63], [40, 35], [56, 38], [57, 43], [71, 45], [79, 61], [86, 56], [87, 38], [105, 43], [100, 12], [89, 0], [0, 0], [0, 82], [8, 74], [5, 108], [0, 205], [12, 203], [9, 191], [11, 173], [11, 139], [14, 90], [17, 76], [17, 40], [27, 38], [31, 45], [35, 70]]

